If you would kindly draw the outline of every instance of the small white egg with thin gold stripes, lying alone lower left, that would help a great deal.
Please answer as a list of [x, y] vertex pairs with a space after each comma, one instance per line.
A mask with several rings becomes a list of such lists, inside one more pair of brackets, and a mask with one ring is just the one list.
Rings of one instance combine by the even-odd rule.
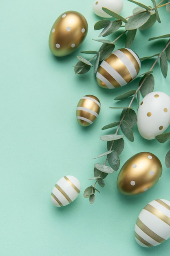
[[76, 177], [62, 177], [51, 192], [51, 201], [56, 207], [62, 207], [73, 202], [80, 193], [80, 182]]

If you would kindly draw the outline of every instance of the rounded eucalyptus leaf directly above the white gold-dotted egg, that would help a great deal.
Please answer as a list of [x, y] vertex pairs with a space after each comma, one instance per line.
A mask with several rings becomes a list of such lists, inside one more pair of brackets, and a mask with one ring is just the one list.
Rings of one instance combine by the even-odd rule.
[[[145, 79], [145, 81], [144, 81], [144, 79]], [[144, 83], [140, 88], [140, 92], [141, 92], [142, 96], [145, 97], [148, 93], [153, 92], [153, 90], [154, 90], [154, 85], [155, 85], [154, 76], [152, 74], [144, 75], [141, 78], [139, 85], [141, 85], [141, 83], [143, 81], [144, 81]]]

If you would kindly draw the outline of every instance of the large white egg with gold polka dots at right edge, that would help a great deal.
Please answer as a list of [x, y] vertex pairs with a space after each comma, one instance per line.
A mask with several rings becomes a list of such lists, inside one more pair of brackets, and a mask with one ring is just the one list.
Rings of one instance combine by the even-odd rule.
[[137, 111], [137, 128], [145, 139], [155, 139], [170, 125], [170, 97], [164, 92], [150, 92]]

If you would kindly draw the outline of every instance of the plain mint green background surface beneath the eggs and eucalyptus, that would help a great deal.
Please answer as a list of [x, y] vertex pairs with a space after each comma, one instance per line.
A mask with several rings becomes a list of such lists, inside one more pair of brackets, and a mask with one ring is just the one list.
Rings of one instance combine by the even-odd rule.
[[[99, 137], [112, 132], [101, 128], [119, 120], [121, 110], [109, 107], [128, 106], [130, 99], [116, 102], [114, 98], [137, 88], [139, 82], [104, 90], [97, 85], [93, 70], [75, 76], [79, 51], [100, 47], [92, 40], [99, 34], [93, 29], [99, 20], [92, 11], [93, 1], [8, 0], [0, 5], [0, 255], [168, 255], [170, 240], [154, 248], [140, 247], [134, 239], [134, 226], [148, 202], [170, 200], [170, 170], [164, 163], [169, 142], [147, 141], [135, 126], [135, 141], [125, 138], [121, 166], [135, 153], [149, 151], [162, 162], [161, 180], [141, 195], [125, 196], [117, 190], [115, 172], [105, 179], [104, 188], [97, 186], [101, 193], [96, 192], [94, 204], [83, 198], [84, 189], [93, 184], [88, 178], [93, 177], [95, 162], [105, 161], [92, 159], [106, 151], [106, 143]], [[121, 15], [129, 16], [135, 7], [124, 0]], [[48, 47], [49, 31], [55, 19], [68, 10], [86, 17], [88, 34], [76, 52], [55, 58]], [[170, 14], [164, 7], [159, 13], [161, 24], [137, 31], [131, 49], [139, 57], [160, 52], [165, 46], [167, 40], [148, 42], [152, 36], [169, 33]], [[117, 41], [115, 49], [124, 47], [124, 39]], [[153, 61], [143, 63], [141, 73]], [[154, 75], [155, 91], [170, 95], [170, 72], [164, 79], [157, 64]], [[83, 128], [77, 123], [75, 109], [86, 94], [98, 97], [102, 108], [95, 123]], [[64, 175], [77, 177], [82, 191], [72, 204], [59, 209], [51, 204], [50, 194]]]

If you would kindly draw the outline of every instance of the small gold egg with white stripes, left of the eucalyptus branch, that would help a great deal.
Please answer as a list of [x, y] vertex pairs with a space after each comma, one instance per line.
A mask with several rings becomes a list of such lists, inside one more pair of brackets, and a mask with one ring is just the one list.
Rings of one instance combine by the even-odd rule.
[[100, 101], [93, 95], [86, 95], [82, 97], [76, 109], [77, 121], [82, 126], [89, 126], [93, 124], [100, 112]]

